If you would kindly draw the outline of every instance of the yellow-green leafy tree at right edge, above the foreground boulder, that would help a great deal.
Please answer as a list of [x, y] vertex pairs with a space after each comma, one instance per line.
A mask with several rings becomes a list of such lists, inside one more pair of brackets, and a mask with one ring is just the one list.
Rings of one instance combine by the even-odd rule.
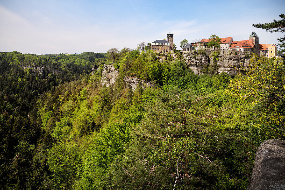
[[253, 136], [258, 134], [260, 138], [257, 143], [268, 138], [284, 139], [284, 73], [283, 59], [253, 55], [248, 72], [238, 74], [230, 83], [230, 94], [251, 102], [258, 114], [251, 126]]

